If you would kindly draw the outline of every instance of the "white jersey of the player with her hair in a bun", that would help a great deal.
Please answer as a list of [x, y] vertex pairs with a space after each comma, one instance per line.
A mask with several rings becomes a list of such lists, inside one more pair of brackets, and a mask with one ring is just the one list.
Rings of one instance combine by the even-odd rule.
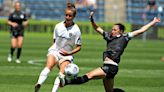
[[49, 50], [59, 51], [64, 49], [68, 52], [72, 51], [76, 45], [81, 45], [81, 32], [77, 24], [66, 28], [64, 22], [60, 22], [55, 26], [53, 39], [55, 43]]

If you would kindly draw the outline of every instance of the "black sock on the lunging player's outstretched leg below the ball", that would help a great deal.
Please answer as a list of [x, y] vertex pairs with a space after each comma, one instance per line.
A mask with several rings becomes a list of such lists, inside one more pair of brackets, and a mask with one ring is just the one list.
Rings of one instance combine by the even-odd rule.
[[82, 84], [82, 83], [86, 83], [88, 82], [88, 77], [87, 75], [81, 76], [81, 77], [77, 77], [75, 79], [66, 79], [66, 85], [67, 84]]

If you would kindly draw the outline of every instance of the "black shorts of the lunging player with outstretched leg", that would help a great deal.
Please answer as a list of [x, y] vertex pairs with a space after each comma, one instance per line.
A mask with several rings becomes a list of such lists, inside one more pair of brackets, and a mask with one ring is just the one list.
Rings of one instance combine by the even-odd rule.
[[107, 79], [113, 79], [118, 72], [118, 66], [111, 64], [104, 64], [101, 69], [106, 73]]

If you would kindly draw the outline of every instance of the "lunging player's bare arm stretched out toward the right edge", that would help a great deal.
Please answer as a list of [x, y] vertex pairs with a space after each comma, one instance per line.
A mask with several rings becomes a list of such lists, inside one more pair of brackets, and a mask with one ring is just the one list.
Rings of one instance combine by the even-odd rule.
[[151, 22], [149, 22], [148, 24], [144, 25], [140, 29], [131, 32], [131, 34], [133, 36], [140, 35], [140, 34], [144, 33], [145, 31], [147, 31], [147, 29], [149, 29], [151, 26], [153, 26], [154, 24], [156, 24], [158, 22], [160, 22], [160, 18], [156, 18], [155, 17]]

